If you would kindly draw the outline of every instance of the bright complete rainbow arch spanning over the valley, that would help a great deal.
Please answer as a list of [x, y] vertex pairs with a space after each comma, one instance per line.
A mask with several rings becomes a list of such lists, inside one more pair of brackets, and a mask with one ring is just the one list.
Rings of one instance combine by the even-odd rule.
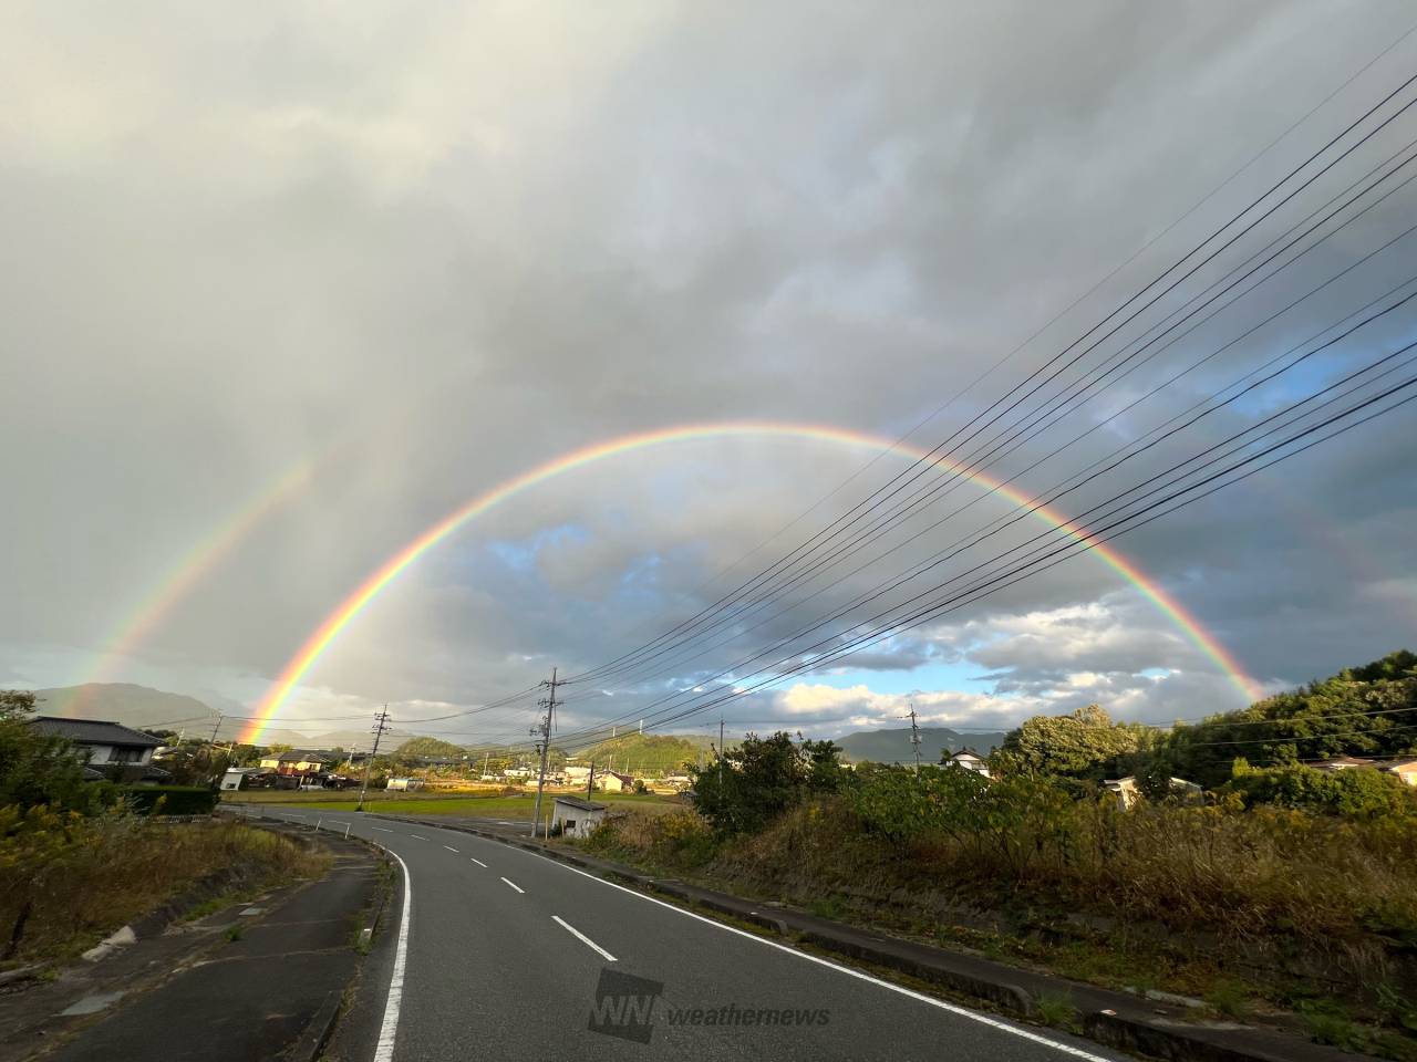
[[[461, 527], [476, 520], [487, 510], [502, 504], [510, 497], [520, 494], [540, 483], [564, 476], [568, 472], [584, 469], [588, 464], [616, 457], [622, 453], [642, 450], [650, 446], [666, 443], [693, 442], [700, 439], [721, 439], [730, 436], [786, 436], [792, 439], [815, 439], [845, 446], [859, 446], [874, 450], [896, 450], [913, 460], [930, 460], [939, 469], [958, 472], [979, 486], [998, 491], [1002, 497], [1015, 504], [1032, 506], [1033, 500], [1022, 491], [1003, 484], [1002, 481], [978, 472], [964, 472], [958, 464], [944, 457], [931, 457], [925, 450], [915, 446], [894, 442], [866, 432], [849, 430], [845, 428], [830, 428], [811, 423], [779, 423], [779, 422], [726, 422], [680, 425], [663, 428], [653, 432], [639, 432], [622, 435], [616, 439], [591, 443], [571, 453], [553, 457], [551, 460], [530, 469], [520, 476], [514, 476], [490, 490], [479, 494], [461, 508], [449, 513], [436, 524], [425, 530], [402, 549], [390, 556], [373, 575], [360, 583], [334, 609], [319, 627], [305, 640], [300, 650], [290, 657], [290, 661], [281, 671], [269, 692], [261, 700], [255, 715], [241, 733], [241, 741], [255, 743], [262, 731], [272, 722], [276, 712], [290, 697], [295, 687], [310, 671], [320, 656], [340, 636], [340, 632], [363, 612], [380, 592], [397, 579], [410, 565], [429, 549], [441, 544]], [[1063, 528], [1073, 538], [1090, 541], [1085, 532], [1067, 528], [1067, 518], [1049, 510], [1036, 508], [1034, 515], [1046, 521], [1050, 527]], [[1258, 687], [1246, 675], [1238, 661], [1212, 636], [1175, 598], [1169, 596], [1161, 586], [1151, 582], [1136, 566], [1122, 554], [1105, 544], [1093, 544], [1091, 552], [1107, 562], [1114, 571], [1136, 586], [1176, 627], [1193, 641], [1231, 681], [1231, 684], [1246, 697], [1246, 701], [1258, 700]]]

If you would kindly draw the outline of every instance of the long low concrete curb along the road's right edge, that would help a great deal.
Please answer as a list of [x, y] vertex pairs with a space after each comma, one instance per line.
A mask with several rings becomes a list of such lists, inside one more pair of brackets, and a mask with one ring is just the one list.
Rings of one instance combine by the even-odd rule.
[[455, 830], [523, 848], [599, 878], [614, 878], [643, 892], [657, 892], [696, 908], [761, 926], [789, 942], [809, 943], [846, 959], [897, 970], [938, 984], [959, 995], [982, 1000], [1022, 1018], [1037, 1015], [1040, 995], [1061, 995], [1070, 998], [1081, 1011], [1083, 1029], [1090, 1039], [1122, 1051], [1166, 1059], [1166, 1062], [1373, 1062], [1370, 1055], [1355, 1055], [1248, 1025], [1185, 1021], [1185, 1007], [1148, 1004], [1148, 1001], [1125, 993], [1114, 993], [1050, 974], [1036, 974], [961, 952], [948, 952], [928, 944], [874, 935], [805, 912], [775, 909], [767, 913], [760, 910], [761, 903], [752, 901], [687, 885], [676, 879], [655, 878], [632, 867], [577, 855], [548, 844], [493, 830], [438, 821], [436, 818], [383, 813], [366, 814], [412, 826]]

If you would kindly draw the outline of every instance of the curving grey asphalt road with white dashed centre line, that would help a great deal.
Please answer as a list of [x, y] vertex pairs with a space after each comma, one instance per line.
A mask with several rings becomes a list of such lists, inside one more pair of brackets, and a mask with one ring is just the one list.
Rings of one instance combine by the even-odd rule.
[[[310, 826], [320, 817], [309, 807], [265, 813]], [[368, 1022], [383, 1031], [367, 1037], [371, 1062], [1125, 1058], [910, 993], [521, 848], [378, 817], [333, 814], [323, 828], [346, 824], [405, 874], [388, 920], [401, 936], [378, 993], [383, 1018]], [[588, 1028], [597, 1008], [606, 1031]]]

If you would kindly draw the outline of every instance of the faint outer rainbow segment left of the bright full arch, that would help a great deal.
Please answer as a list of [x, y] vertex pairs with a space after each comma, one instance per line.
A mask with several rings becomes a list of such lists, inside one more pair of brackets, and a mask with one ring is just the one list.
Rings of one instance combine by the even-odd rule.
[[[152, 582], [137, 605], [113, 624], [102, 640], [103, 649], [92, 668], [75, 685], [109, 683], [125, 657], [145, 641], [171, 615], [177, 603], [196, 589], [197, 583], [217, 566], [271, 513], [293, 498], [309, 484], [323, 457], [307, 457], [288, 469], [279, 479], [262, 487], [241, 506], [227, 514], [204, 538]], [[82, 707], [84, 694], [71, 711]]]

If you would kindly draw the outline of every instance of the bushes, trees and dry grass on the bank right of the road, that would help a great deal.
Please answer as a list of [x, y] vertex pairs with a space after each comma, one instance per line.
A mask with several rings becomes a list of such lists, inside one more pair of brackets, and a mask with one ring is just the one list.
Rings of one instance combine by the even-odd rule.
[[[1244, 743], [1210, 743], [1224, 741]], [[585, 844], [740, 895], [1110, 987], [1203, 997], [1214, 1017], [1414, 1059], [1417, 790], [1374, 769], [1305, 763], [1342, 753], [1417, 755], [1417, 657], [1170, 735], [1115, 726], [1095, 707], [1030, 719], [990, 758], [993, 777], [849, 770], [830, 742], [750, 735], [721, 770], [696, 772], [693, 809], [616, 816]], [[1203, 796], [1173, 790], [1187, 769]], [[1101, 786], [1124, 775], [1141, 790], [1125, 809]]]

